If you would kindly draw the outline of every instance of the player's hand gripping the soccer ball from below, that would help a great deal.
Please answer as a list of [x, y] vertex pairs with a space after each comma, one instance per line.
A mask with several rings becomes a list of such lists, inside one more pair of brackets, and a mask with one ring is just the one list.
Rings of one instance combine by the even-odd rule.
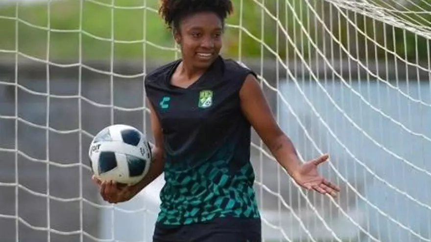
[[115, 181], [101, 181], [96, 176], [92, 179], [99, 187], [100, 196], [109, 203], [125, 202], [139, 193], [136, 186], [120, 185]]

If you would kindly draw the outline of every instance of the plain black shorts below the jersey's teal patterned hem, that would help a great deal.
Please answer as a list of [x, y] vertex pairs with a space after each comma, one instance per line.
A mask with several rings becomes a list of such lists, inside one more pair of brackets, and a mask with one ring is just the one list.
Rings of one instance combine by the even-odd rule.
[[216, 218], [187, 225], [157, 224], [153, 242], [262, 242], [260, 219]]

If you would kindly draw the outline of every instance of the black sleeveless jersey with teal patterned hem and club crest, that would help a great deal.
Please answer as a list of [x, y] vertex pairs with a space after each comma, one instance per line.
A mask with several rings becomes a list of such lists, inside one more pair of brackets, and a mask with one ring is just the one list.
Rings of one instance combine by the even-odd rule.
[[251, 125], [239, 89], [251, 70], [218, 57], [190, 87], [170, 84], [181, 60], [145, 78], [164, 137], [164, 185], [158, 222], [189, 224], [216, 217], [259, 218], [250, 163]]

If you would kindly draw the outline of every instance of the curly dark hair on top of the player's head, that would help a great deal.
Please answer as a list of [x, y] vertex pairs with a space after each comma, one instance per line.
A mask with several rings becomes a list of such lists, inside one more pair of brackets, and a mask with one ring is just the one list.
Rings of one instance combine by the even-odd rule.
[[215, 13], [224, 24], [233, 10], [231, 0], [160, 0], [159, 14], [169, 29], [178, 29], [184, 17], [204, 11]]

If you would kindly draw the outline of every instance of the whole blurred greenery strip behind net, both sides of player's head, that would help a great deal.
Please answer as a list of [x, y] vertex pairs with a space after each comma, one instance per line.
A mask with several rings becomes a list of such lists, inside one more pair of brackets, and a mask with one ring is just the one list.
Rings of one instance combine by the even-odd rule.
[[[80, 49], [84, 60], [110, 60], [111, 57], [116, 61], [121, 59], [142, 60], [144, 57], [147, 61], [151, 61], [152, 59], [172, 60], [175, 57], [175, 52], [171, 50], [174, 47], [171, 33], [165, 27], [158, 13], [154, 11], [157, 10], [158, 0], [116, 0], [115, 5], [118, 7], [114, 10], [109, 6], [112, 0], [97, 0], [102, 4], [88, 0], [82, 2], [82, 11], [80, 11], [80, 0], [51, 2], [49, 11], [47, 3], [20, 5], [18, 9], [15, 5], [0, 5], [0, 49], [15, 50], [15, 45], [18, 44], [19, 51], [36, 58], [47, 59], [47, 53], [49, 52], [51, 60], [72, 59], [72, 61], [78, 60]], [[152, 10], [144, 10], [142, 8], [144, 2]], [[322, 26], [317, 25], [317, 29], [313, 27], [314, 14], [299, 1], [288, 0], [288, 6], [286, 6], [286, 1], [279, 1], [278, 20], [283, 25], [283, 29], [287, 31], [292, 43], [287, 43], [286, 36], [280, 31], [278, 48], [275, 35], [277, 22], [263, 11], [261, 6], [252, 1], [243, 1], [242, 12], [240, 11], [240, 1], [234, 0], [233, 2], [235, 13], [228, 19], [228, 23], [239, 25], [239, 19], [241, 18], [243, 28], [258, 40], [263, 41], [270, 49], [278, 49], [277, 54], [281, 58], [286, 56], [297, 57], [294, 47], [305, 59], [309, 58], [309, 53], [311, 53], [311, 57], [314, 57], [315, 49], [310, 45], [310, 40], [313, 40], [317, 45], [322, 44]], [[266, 1], [265, 3], [265, 7], [273, 15], [276, 15], [275, 3], [275, 0]], [[329, 10], [329, 5], [321, 4], [319, 0], [312, 0], [311, 5], [316, 9], [317, 13], [328, 12]], [[122, 9], [125, 7], [129, 8]], [[336, 10], [334, 10], [333, 14], [336, 16]], [[10, 19], [1, 17], [9, 17]], [[14, 19], [16, 17], [22, 21], [17, 22]], [[310, 22], [309, 19], [312, 20], [310, 25], [307, 24]], [[351, 36], [352, 33], [348, 35], [345, 29], [347, 21], [345, 19], [342, 19], [339, 23], [336, 20], [332, 21], [335, 21], [333, 24], [334, 29], [332, 29], [335, 38], [341, 40], [345, 47], [348, 44], [355, 44]], [[355, 20], [352, 19], [352, 21]], [[262, 22], [264, 22], [263, 32], [261, 30]], [[45, 29], [29, 26], [27, 23], [41, 26]], [[371, 31], [373, 28], [371, 19], [361, 18], [360, 15], [357, 17], [357, 24], [360, 29], [367, 28], [368, 35], [383, 44], [383, 24], [377, 24], [376, 30]], [[423, 23], [423, 25], [426, 24], [425, 22]], [[326, 25], [329, 26], [329, 22]], [[16, 34], [16, 27], [18, 27], [18, 34]], [[47, 31], [46, 28], [48, 27], [62, 30], [62, 32]], [[82, 30], [81, 35], [77, 32], [65, 32], [77, 29]], [[308, 36], [304, 34], [304, 29]], [[265, 57], [274, 58], [270, 51], [265, 47], [262, 48], [259, 41], [251, 38], [244, 31], [241, 33], [241, 42], [239, 43], [239, 32], [239, 28], [227, 29], [223, 48], [225, 56], [237, 57], [240, 54], [244, 58], [253, 58], [260, 57], [263, 53]], [[377, 36], [373, 37], [372, 32], [376, 32]], [[404, 32], [397, 29], [394, 34], [396, 39], [395, 50], [400, 56], [415, 57], [416, 45], [418, 46], [417, 49], [420, 50], [418, 53], [420, 58], [428, 56], [428, 53], [423, 51], [427, 46], [425, 38], [419, 38], [416, 41], [414, 35], [407, 32], [406, 42], [404, 41], [404, 34], [400, 33]], [[389, 49], [393, 49], [394, 44], [390, 43], [393, 40], [390, 26], [388, 27], [387, 35], [387, 46]], [[358, 38], [359, 48], [364, 49], [365, 39], [362, 36]], [[113, 44], [111, 39], [125, 42], [126, 44]], [[143, 43], [143, 40], [149, 42], [149, 44]], [[154, 47], [154, 45], [162, 48]], [[114, 48], [112, 48], [113, 46]], [[374, 44], [368, 43], [368, 47], [368, 51], [360, 51], [358, 54], [364, 55], [364, 53], [368, 52], [370, 56], [374, 56]], [[163, 50], [163, 48], [168, 48], [169, 50]], [[334, 48], [337, 47], [335, 46]], [[383, 49], [378, 49], [378, 51], [379, 56], [384, 56], [385, 51]], [[355, 53], [352, 52], [352, 54]], [[0, 56], [0, 58], [4, 57], [7, 57], [7, 55], [2, 54]]]

